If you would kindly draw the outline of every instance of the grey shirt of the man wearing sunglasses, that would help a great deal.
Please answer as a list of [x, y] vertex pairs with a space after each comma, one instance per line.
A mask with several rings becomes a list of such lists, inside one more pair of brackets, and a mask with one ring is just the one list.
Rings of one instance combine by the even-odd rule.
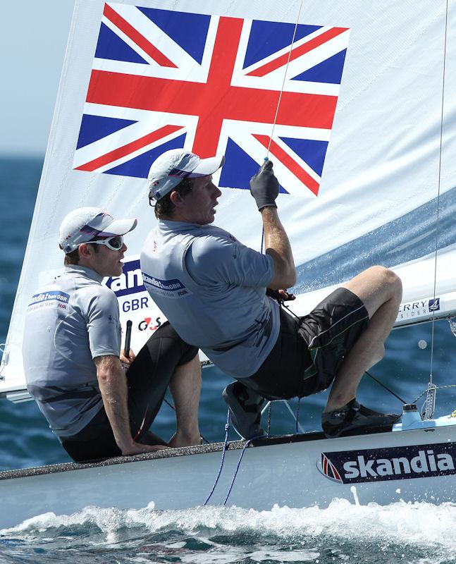
[[66, 266], [27, 307], [27, 389], [58, 436], [78, 433], [97, 415], [103, 403], [93, 359], [121, 350], [117, 298], [101, 281], [85, 266]]

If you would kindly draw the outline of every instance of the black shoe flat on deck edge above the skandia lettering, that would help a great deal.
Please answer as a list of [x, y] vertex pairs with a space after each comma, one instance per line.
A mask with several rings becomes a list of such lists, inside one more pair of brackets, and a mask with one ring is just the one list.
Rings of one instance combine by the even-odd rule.
[[333, 439], [352, 429], [369, 429], [381, 425], [393, 425], [400, 415], [394, 413], [378, 413], [369, 410], [352, 399], [338, 410], [328, 411], [321, 415], [321, 428], [327, 439]]

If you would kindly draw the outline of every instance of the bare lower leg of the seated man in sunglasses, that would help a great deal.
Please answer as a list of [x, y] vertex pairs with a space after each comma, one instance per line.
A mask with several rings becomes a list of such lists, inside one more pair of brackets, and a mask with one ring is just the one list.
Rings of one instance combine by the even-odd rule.
[[198, 427], [198, 405], [201, 391], [201, 365], [198, 355], [175, 369], [169, 390], [173, 396], [177, 422], [177, 429], [168, 443], [169, 446], [199, 445], [201, 436]]

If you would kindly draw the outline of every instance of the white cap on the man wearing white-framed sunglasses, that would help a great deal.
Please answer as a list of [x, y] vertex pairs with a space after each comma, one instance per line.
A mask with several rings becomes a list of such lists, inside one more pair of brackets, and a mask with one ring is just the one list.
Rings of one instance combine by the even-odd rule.
[[114, 219], [98, 207], [80, 207], [63, 219], [58, 231], [58, 243], [65, 254], [68, 254], [81, 243], [88, 243], [99, 237], [125, 235], [136, 225], [136, 219]]

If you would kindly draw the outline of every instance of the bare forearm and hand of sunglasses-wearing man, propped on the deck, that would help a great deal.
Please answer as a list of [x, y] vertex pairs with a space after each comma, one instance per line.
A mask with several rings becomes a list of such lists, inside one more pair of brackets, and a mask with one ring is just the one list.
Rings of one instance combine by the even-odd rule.
[[143, 445], [133, 441], [128, 414], [127, 379], [119, 358], [114, 355], [95, 357], [94, 363], [97, 367], [97, 379], [104, 410], [122, 454], [128, 456], [166, 448], [158, 445]]

